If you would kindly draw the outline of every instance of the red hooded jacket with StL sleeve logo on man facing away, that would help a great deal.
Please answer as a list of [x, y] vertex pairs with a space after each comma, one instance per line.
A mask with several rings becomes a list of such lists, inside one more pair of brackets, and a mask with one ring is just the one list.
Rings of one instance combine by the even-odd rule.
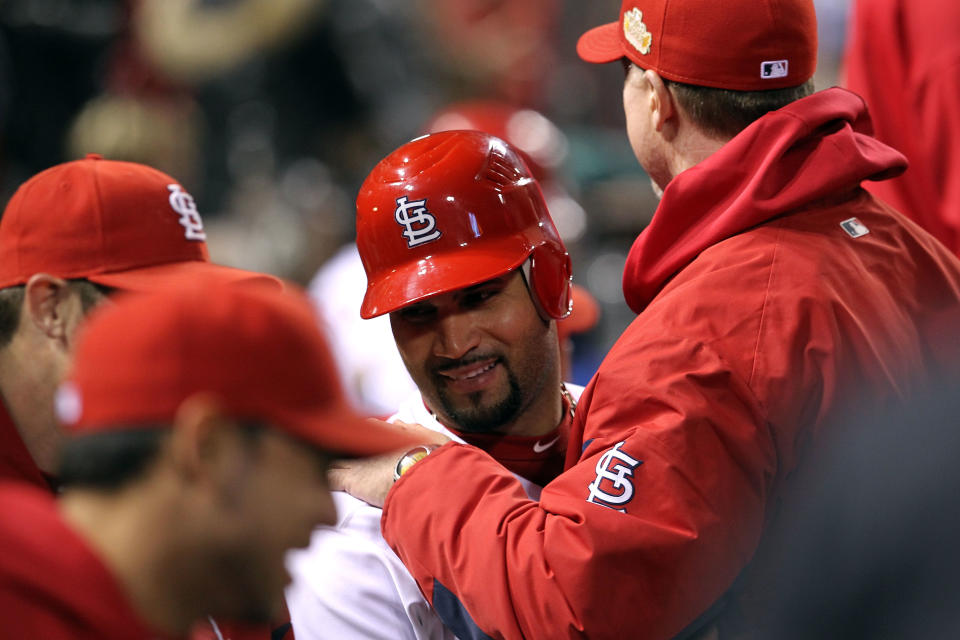
[[384, 537], [431, 602], [436, 580], [494, 638], [673, 637], [741, 574], [806, 444], [862, 392], [882, 410], [960, 366], [960, 262], [858, 187], [902, 167], [863, 118], [816, 94], [669, 185], [628, 260], [643, 311], [539, 503], [459, 445], [397, 482]]

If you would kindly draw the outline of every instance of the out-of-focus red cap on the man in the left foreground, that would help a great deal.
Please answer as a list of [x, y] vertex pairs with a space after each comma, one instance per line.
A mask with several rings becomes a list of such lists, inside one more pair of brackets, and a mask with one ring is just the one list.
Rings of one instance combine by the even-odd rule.
[[226, 415], [337, 454], [416, 444], [347, 404], [319, 326], [301, 292], [261, 284], [121, 295], [81, 328], [57, 413], [74, 435], [136, 429], [205, 394]]

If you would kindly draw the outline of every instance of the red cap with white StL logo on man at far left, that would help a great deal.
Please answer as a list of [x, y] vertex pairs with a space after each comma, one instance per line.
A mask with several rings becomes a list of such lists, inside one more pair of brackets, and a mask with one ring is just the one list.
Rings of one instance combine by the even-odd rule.
[[210, 262], [203, 222], [176, 180], [146, 165], [90, 154], [23, 183], [0, 219], [0, 289], [35, 273], [149, 291], [198, 276], [273, 276]]

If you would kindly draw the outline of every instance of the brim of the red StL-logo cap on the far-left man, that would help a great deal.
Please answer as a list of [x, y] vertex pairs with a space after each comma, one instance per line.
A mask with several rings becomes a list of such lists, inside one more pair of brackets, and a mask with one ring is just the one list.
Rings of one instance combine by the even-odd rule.
[[88, 275], [86, 279], [114, 289], [137, 293], [175, 289], [197, 280], [209, 280], [215, 284], [242, 282], [244, 284], [264, 284], [274, 286], [277, 289], [284, 288], [283, 281], [275, 276], [235, 269], [202, 260], [170, 262], [127, 271], [96, 273]]

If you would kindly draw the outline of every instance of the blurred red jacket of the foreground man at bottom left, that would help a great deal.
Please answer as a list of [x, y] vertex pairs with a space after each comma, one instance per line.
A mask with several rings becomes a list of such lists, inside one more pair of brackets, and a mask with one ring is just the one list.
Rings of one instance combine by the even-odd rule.
[[[5, 638], [149, 640], [117, 581], [61, 519], [53, 497], [0, 486], [0, 619]], [[12, 516], [11, 514], [16, 514]]]

